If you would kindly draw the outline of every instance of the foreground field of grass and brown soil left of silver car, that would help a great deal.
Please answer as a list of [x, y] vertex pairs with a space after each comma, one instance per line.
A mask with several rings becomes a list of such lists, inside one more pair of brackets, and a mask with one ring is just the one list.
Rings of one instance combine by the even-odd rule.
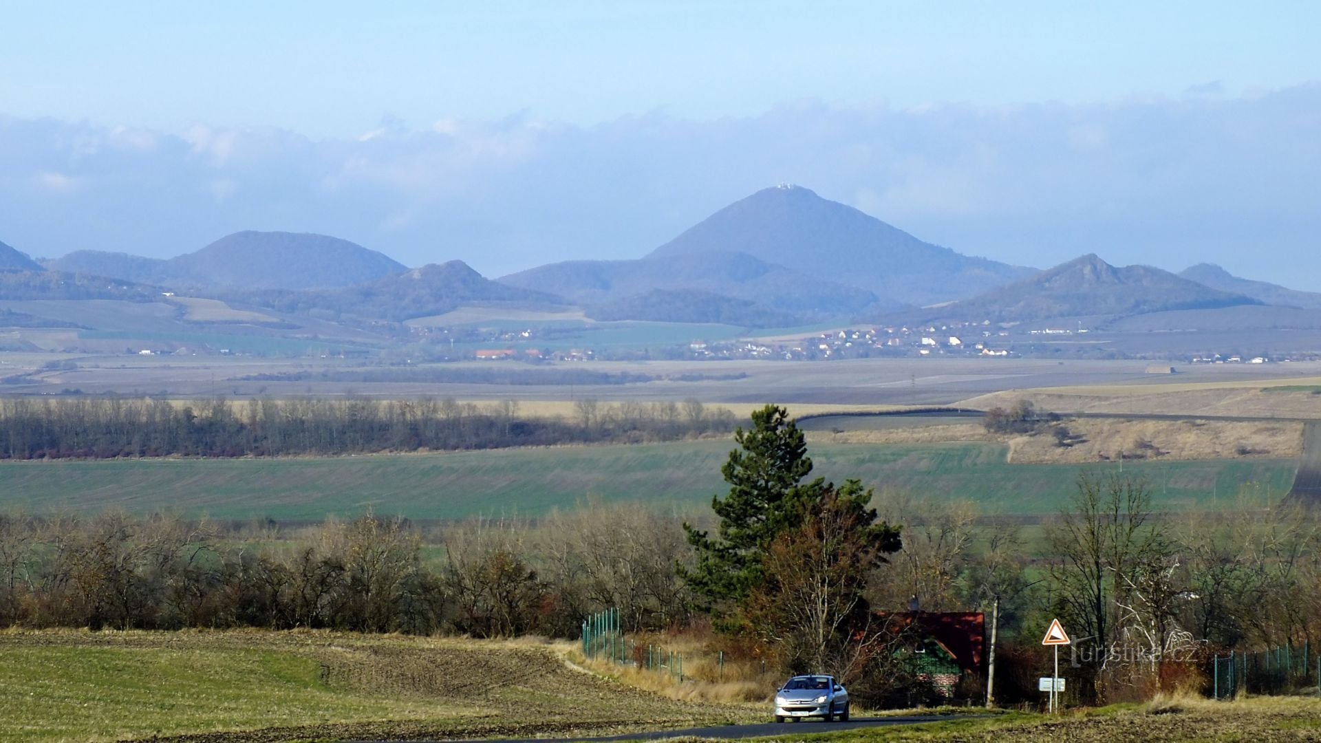
[[325, 632], [0, 633], [0, 740], [572, 734], [746, 719], [575, 670], [547, 645]]

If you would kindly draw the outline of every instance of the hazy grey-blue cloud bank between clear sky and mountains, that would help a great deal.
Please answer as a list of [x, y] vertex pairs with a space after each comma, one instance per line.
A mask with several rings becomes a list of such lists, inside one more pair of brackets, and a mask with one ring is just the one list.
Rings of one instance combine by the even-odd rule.
[[41, 256], [170, 256], [279, 229], [501, 275], [638, 256], [777, 182], [1011, 263], [1211, 260], [1321, 290], [1321, 85], [1090, 106], [807, 100], [593, 127], [387, 119], [345, 140], [0, 116], [0, 239]]

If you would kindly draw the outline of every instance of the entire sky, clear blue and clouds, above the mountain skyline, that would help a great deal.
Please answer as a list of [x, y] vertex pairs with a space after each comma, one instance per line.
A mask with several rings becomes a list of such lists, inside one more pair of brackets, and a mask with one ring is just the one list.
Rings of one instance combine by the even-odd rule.
[[202, 5], [0, 0], [0, 241], [501, 275], [797, 182], [1009, 263], [1321, 290], [1317, 3]]

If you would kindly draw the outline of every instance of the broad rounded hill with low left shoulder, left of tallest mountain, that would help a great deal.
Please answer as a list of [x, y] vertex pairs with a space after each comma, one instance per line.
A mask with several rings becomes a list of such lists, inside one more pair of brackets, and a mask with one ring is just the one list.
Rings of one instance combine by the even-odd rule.
[[226, 235], [196, 253], [169, 260], [79, 250], [48, 266], [58, 271], [170, 287], [244, 290], [338, 288], [407, 271], [387, 255], [346, 239], [252, 230]]

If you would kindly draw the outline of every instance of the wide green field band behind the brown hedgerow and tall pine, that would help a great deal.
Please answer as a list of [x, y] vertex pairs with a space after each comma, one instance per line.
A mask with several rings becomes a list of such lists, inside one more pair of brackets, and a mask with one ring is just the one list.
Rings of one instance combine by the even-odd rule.
[[[306, 459], [29, 461], [0, 464], [0, 509], [161, 509], [217, 518], [320, 521], [366, 509], [420, 520], [544, 514], [598, 502], [700, 509], [723, 492], [731, 440]], [[1005, 464], [996, 444], [812, 444], [816, 473], [859, 477], [985, 513], [1058, 512], [1079, 465]], [[1295, 460], [1125, 461], [1162, 510], [1226, 504], [1246, 484], [1288, 492]], [[1108, 468], [1108, 469], [1104, 469]], [[1096, 472], [1115, 464], [1089, 465]]]

